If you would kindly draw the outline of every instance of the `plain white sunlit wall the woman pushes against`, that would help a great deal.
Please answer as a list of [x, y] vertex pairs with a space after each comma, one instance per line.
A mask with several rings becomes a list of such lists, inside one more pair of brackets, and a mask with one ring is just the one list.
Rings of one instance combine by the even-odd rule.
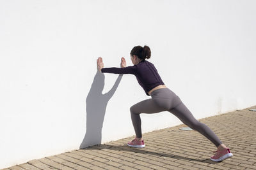
[[[136, 45], [150, 46], [196, 118], [255, 105], [255, 5], [0, 1], [0, 168], [134, 135], [129, 108], [149, 97], [132, 75], [97, 74], [96, 59], [131, 66]], [[167, 112], [141, 117], [143, 132], [181, 124]]]

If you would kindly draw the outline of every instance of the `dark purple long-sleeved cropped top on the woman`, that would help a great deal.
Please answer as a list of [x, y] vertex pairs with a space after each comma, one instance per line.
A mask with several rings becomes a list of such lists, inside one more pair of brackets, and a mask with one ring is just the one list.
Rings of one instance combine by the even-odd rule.
[[157, 73], [157, 69], [151, 62], [141, 60], [137, 65], [127, 67], [109, 67], [102, 68], [102, 73], [115, 73], [115, 74], [134, 74], [138, 83], [144, 89], [147, 96], [148, 92], [158, 85], [164, 85], [161, 77]]

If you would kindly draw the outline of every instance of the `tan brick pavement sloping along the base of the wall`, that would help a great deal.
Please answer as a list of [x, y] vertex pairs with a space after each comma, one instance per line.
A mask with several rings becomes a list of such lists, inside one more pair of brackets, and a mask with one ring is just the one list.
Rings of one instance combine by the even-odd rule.
[[[256, 108], [256, 106], [252, 107]], [[30, 160], [16, 169], [256, 169], [256, 111], [232, 111], [200, 119], [234, 156], [223, 162], [209, 159], [215, 146], [196, 131], [180, 131], [177, 125], [143, 134], [145, 148], [126, 146], [130, 138], [83, 150]]]

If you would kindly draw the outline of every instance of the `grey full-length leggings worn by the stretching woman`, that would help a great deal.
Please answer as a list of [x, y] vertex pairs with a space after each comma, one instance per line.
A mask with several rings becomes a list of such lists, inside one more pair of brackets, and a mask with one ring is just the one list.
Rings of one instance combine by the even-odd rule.
[[215, 146], [221, 145], [222, 142], [218, 136], [207, 125], [198, 122], [184, 103], [182, 103], [180, 97], [172, 92], [172, 90], [168, 88], [157, 89], [151, 93], [151, 97], [152, 99], [141, 101], [130, 108], [132, 124], [137, 138], [142, 137], [140, 113], [170, 111], [188, 127], [208, 138]]

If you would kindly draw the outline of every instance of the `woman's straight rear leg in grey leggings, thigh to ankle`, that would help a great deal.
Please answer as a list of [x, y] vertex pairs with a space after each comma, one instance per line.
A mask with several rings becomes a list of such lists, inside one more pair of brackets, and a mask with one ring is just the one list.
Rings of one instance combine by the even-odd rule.
[[214, 132], [212, 132], [212, 130], [207, 125], [202, 124], [201, 122], [196, 120], [195, 117], [193, 117], [192, 113], [188, 110], [184, 103], [180, 103], [178, 106], [175, 106], [175, 108], [172, 108], [168, 111], [173, 113], [173, 115], [178, 117], [184, 124], [188, 125], [188, 127], [190, 127], [191, 129], [200, 132], [212, 143], [214, 143], [216, 147], [222, 144], [218, 136], [216, 136], [216, 134], [214, 134]]

